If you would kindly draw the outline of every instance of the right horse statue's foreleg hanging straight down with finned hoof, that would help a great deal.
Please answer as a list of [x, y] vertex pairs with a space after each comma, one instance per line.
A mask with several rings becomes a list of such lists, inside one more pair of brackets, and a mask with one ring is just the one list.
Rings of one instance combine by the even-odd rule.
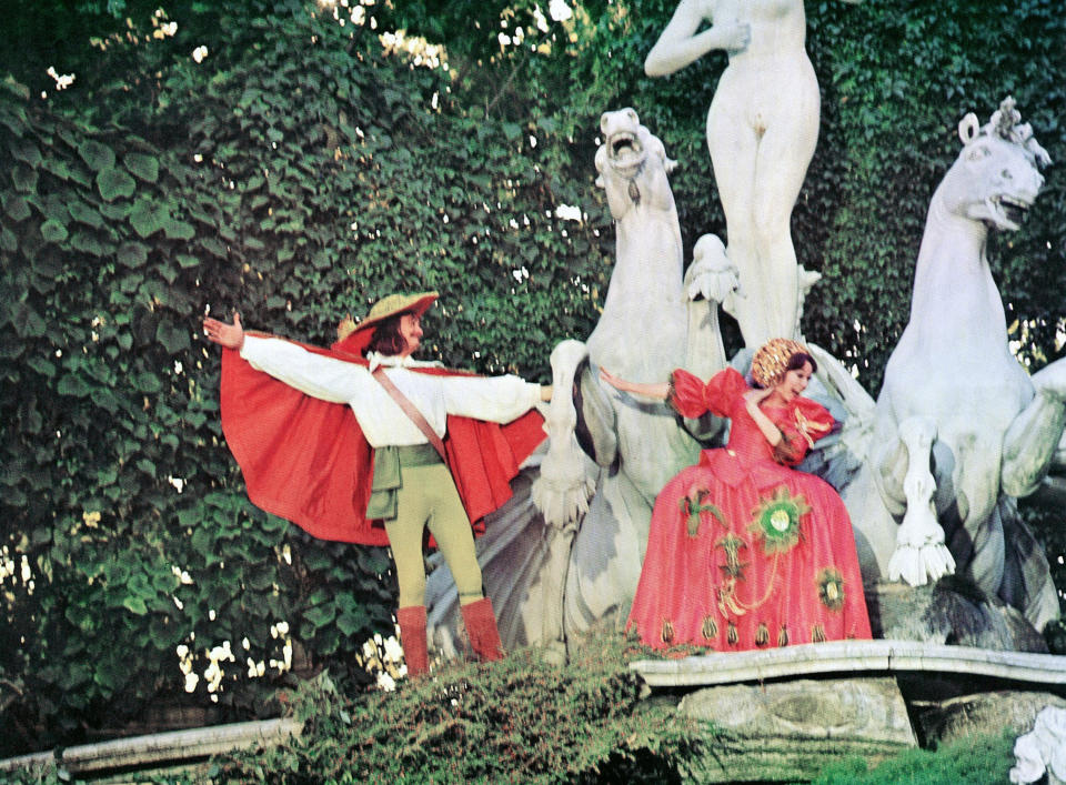
[[888, 580], [902, 578], [912, 586], [921, 586], [955, 570], [933, 506], [936, 481], [929, 471], [929, 454], [936, 439], [936, 423], [926, 416], [907, 417], [899, 423], [899, 439], [908, 455], [903, 481], [907, 510], [896, 535], [896, 552], [888, 561]]

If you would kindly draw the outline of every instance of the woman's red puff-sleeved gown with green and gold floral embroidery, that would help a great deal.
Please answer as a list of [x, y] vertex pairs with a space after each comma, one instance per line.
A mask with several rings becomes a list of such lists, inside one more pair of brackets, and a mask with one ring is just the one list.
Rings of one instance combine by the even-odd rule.
[[747, 413], [744, 378], [704, 383], [682, 370], [671, 404], [732, 421], [725, 447], [704, 450], [660, 492], [630, 612], [648, 646], [750, 650], [871, 637], [851, 519], [821, 477], [790, 469], [827, 435], [832, 415], [797, 397], [763, 411], [777, 447]]

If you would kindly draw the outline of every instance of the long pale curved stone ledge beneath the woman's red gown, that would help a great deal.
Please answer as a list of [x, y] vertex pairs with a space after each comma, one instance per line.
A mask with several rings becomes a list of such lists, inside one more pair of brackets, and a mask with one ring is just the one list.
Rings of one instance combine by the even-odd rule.
[[1066, 685], [1066, 656], [947, 646], [916, 641], [828, 641], [683, 660], [630, 663], [650, 686], [736, 684], [819, 673], [964, 673]]

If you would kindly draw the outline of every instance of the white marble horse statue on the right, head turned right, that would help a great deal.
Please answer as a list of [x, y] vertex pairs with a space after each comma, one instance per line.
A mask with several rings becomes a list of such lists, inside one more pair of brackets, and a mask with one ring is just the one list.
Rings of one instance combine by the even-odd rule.
[[[911, 319], [876, 407], [857, 384], [851, 391], [853, 412], [866, 414], [849, 425], [867, 439], [853, 450], [865, 465], [843, 495], [864, 576], [923, 585], [957, 570], [1039, 630], [1058, 616], [1058, 600], [1014, 499], [1056, 460], [1066, 361], [1030, 376], [1012, 355], [986, 243], [989, 229], [1019, 228], [1050, 161], [1009, 98], [989, 123], [967, 114], [958, 132], [963, 150], [933, 194]], [[819, 360], [832, 371], [831, 358]]]

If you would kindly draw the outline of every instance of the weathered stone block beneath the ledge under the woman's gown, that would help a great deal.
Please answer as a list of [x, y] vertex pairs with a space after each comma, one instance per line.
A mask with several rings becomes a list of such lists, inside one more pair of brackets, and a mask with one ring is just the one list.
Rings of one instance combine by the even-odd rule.
[[878, 761], [917, 746], [891, 677], [708, 687], [687, 694], [677, 713], [721, 734], [701, 782], [811, 779], [846, 756]]

